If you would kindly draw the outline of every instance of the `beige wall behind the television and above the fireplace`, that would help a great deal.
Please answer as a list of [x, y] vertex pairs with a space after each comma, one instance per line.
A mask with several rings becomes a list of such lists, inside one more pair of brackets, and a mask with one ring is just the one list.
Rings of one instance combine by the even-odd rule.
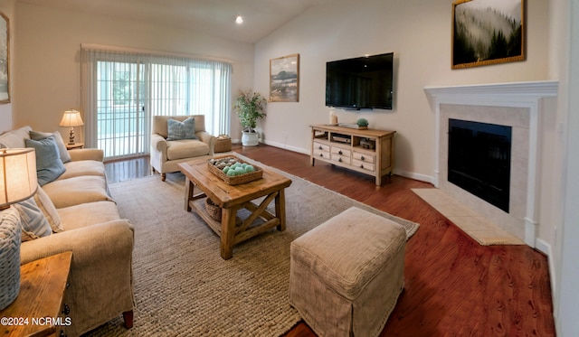
[[338, 121], [365, 117], [394, 129], [394, 173], [430, 181], [433, 116], [424, 87], [549, 79], [548, 2], [527, 1], [527, 61], [451, 70], [449, 0], [365, 0], [320, 5], [256, 44], [254, 87], [269, 95], [269, 61], [300, 54], [299, 103], [270, 103], [266, 143], [309, 153], [308, 126], [327, 123], [326, 61], [394, 51], [394, 109], [337, 110]]

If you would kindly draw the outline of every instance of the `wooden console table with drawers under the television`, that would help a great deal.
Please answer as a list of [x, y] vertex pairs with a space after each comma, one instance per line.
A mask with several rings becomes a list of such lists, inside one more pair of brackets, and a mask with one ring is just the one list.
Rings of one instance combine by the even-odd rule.
[[382, 184], [384, 174], [394, 167], [394, 134], [396, 131], [356, 129], [345, 126], [311, 126], [312, 166], [315, 160], [375, 176]]

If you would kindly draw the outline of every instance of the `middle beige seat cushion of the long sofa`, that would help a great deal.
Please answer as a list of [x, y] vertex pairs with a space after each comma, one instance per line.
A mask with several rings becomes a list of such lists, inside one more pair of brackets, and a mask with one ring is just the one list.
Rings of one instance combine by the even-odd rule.
[[43, 186], [56, 209], [85, 202], [111, 201], [105, 177], [86, 175], [56, 180]]

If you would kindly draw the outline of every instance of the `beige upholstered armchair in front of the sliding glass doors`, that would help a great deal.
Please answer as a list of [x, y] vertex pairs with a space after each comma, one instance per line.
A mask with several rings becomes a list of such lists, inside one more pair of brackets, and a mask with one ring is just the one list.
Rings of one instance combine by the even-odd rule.
[[[167, 119], [183, 122], [189, 117], [195, 118], [195, 136], [197, 139], [167, 140]], [[205, 131], [205, 117], [195, 116], [154, 116], [151, 136], [151, 167], [153, 172], [161, 173], [165, 181], [166, 173], [179, 171], [177, 164], [195, 157], [214, 154], [215, 137]]]

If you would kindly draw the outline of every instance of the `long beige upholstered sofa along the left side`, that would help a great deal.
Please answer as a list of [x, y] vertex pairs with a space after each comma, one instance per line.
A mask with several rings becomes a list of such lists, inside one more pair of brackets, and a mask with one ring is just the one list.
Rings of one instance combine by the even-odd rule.
[[[30, 131], [30, 126], [24, 126], [0, 135], [0, 147], [25, 147]], [[68, 336], [79, 336], [120, 314], [130, 327], [134, 227], [120, 218], [109, 195], [102, 151], [75, 149], [68, 154], [71, 161], [63, 164], [65, 172], [39, 186], [34, 196], [42, 211], [39, 216], [44, 216], [54, 230], [21, 244], [21, 264], [72, 252], [70, 286], [64, 297], [71, 325], [62, 326]]]

